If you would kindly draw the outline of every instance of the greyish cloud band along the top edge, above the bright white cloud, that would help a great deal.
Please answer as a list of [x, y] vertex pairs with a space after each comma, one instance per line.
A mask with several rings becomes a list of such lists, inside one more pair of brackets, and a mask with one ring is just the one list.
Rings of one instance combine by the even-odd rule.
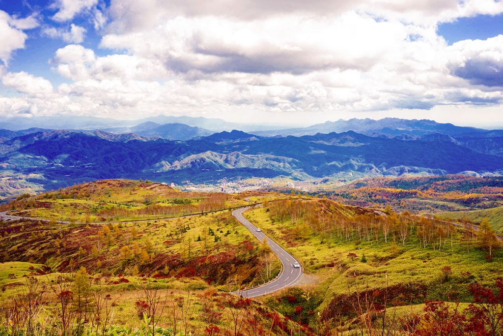
[[422, 25], [452, 21], [478, 14], [495, 15], [503, 12], [503, 4], [495, 0], [113, 0], [110, 13], [113, 27], [131, 31], [154, 27], [177, 16], [217, 16], [239, 20], [262, 20], [268, 17], [297, 14], [328, 17], [346, 12], [370, 13], [376, 17]]

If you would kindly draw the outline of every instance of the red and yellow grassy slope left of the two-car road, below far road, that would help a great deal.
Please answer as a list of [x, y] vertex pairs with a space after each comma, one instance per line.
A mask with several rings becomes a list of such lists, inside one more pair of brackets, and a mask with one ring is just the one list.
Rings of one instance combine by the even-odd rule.
[[[153, 275], [167, 265], [170, 276], [194, 275], [215, 285], [234, 276], [238, 284], [259, 281], [261, 244], [230, 212], [115, 225], [110, 246], [103, 230], [102, 225], [7, 222], [0, 229], [5, 251], [0, 258], [40, 262], [61, 272], [85, 266], [92, 273], [130, 274], [137, 266], [139, 273]], [[133, 254], [124, 255], [125, 247]], [[148, 260], [141, 257], [143, 249]]]

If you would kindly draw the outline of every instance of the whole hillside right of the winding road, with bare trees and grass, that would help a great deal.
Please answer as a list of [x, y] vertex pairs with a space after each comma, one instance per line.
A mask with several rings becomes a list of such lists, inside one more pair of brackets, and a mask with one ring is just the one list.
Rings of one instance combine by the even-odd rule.
[[[472, 245], [473, 237], [425, 218], [414, 223], [407, 216], [392, 212], [386, 216], [326, 199], [283, 201], [247, 214], [299, 258], [316, 283], [314, 299], [321, 320], [337, 320], [339, 331], [351, 330], [353, 318], [369, 312], [369, 302], [388, 307], [387, 323], [393, 323], [399, 312], [421, 319], [425, 301], [470, 302], [472, 280], [488, 286], [496, 281], [501, 264], [487, 262], [483, 251]], [[438, 235], [444, 235], [443, 243]], [[497, 258], [501, 256], [498, 252]], [[288, 295], [298, 294], [292, 289], [282, 300]], [[363, 310], [358, 297], [365, 302]], [[287, 312], [288, 306], [276, 300], [267, 302]]]

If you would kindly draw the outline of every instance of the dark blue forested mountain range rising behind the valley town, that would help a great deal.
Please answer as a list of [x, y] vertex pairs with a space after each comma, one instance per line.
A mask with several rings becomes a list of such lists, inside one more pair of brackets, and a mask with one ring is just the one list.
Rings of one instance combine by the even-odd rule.
[[[393, 128], [375, 133], [374, 126], [367, 127], [373, 136], [350, 130], [285, 137], [238, 130], [207, 135], [207, 129], [196, 126], [155, 122], [132, 126], [140, 135], [2, 130], [0, 137], [15, 137], [0, 144], [0, 167], [13, 176], [37, 174], [33, 182], [46, 189], [104, 178], [215, 182], [224, 177], [308, 179], [354, 172], [375, 176], [503, 172], [503, 131], [400, 120], [379, 120], [381, 126], [406, 131], [394, 138], [387, 131]], [[181, 137], [185, 131], [185, 137], [192, 139], [163, 139], [177, 132]]]

